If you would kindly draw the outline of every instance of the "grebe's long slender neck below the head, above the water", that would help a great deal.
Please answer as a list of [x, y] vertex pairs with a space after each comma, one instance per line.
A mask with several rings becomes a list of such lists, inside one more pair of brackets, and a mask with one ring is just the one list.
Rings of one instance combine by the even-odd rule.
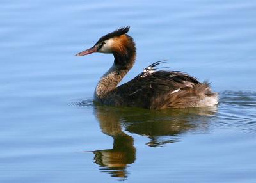
[[94, 98], [99, 102], [116, 88], [117, 84], [120, 83], [125, 74], [132, 68], [136, 58], [135, 47], [129, 54], [113, 52], [113, 55], [115, 58], [113, 66], [100, 78], [95, 88]]

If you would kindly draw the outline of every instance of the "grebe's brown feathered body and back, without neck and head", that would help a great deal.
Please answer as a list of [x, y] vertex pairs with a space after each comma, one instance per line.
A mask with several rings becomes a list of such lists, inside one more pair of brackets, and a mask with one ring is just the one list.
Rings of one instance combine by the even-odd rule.
[[[211, 92], [209, 83], [200, 83], [195, 77], [179, 71], [142, 72], [128, 83], [113, 90], [106, 98], [107, 105], [143, 107], [148, 109], [204, 107], [207, 97], [218, 97]], [[207, 101], [206, 101], [207, 102]]]

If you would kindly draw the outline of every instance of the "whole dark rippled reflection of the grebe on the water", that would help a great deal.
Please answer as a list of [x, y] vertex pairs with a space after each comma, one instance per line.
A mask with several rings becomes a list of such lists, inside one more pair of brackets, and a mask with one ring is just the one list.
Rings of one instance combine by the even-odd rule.
[[177, 141], [180, 134], [188, 131], [205, 131], [215, 112], [216, 106], [162, 111], [95, 106], [95, 116], [102, 132], [113, 138], [112, 149], [93, 151], [95, 163], [104, 167], [103, 172], [124, 180], [126, 167], [136, 159], [134, 140], [124, 131], [147, 136], [150, 138], [147, 145], [161, 147]]

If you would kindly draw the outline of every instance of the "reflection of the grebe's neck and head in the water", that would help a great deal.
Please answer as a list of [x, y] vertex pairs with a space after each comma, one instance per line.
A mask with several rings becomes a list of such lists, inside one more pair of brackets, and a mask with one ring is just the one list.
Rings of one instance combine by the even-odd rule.
[[95, 163], [104, 167], [101, 170], [108, 172], [112, 177], [125, 179], [126, 167], [136, 159], [134, 140], [122, 131], [120, 119], [113, 108], [95, 107], [95, 116], [99, 120], [102, 132], [113, 138], [112, 149], [93, 152]]

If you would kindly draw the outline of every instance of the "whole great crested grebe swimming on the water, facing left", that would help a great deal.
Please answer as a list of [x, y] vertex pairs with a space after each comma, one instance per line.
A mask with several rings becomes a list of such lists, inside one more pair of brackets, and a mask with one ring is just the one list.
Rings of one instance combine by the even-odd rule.
[[147, 109], [209, 107], [218, 104], [218, 93], [209, 83], [200, 83], [193, 76], [180, 71], [156, 70], [163, 61], [152, 63], [131, 81], [118, 87], [118, 83], [132, 68], [136, 47], [126, 33], [129, 26], [102, 36], [93, 47], [76, 54], [93, 52], [111, 53], [114, 64], [100, 79], [95, 88], [96, 102], [107, 106], [143, 107]]

